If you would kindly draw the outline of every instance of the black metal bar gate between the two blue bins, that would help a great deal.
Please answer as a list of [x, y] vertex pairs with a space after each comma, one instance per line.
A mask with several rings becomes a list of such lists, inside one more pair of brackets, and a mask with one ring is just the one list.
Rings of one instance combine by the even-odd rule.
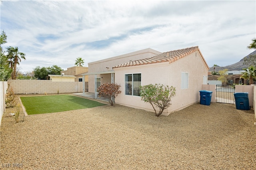
[[234, 104], [235, 85], [216, 85], [216, 102]]

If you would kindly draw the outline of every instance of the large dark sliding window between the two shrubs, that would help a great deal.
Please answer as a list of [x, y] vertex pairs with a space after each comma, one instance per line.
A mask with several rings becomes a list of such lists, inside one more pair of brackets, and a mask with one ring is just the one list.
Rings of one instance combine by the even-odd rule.
[[125, 75], [125, 94], [140, 96], [141, 73]]

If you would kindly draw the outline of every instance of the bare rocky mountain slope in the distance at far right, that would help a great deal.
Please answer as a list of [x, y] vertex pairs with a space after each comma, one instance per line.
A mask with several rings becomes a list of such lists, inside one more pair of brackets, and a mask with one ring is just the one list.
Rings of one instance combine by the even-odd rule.
[[[248, 58], [250, 55], [256, 55], [256, 50], [253, 51], [252, 53], [248, 54], [245, 57]], [[215, 71], [220, 71], [223, 69], [228, 69], [228, 71], [236, 71], [236, 70], [242, 70], [243, 68], [248, 68], [250, 65], [244, 65], [245, 57], [243, 57], [240, 61], [238, 61], [237, 63], [234, 63], [232, 65], [227, 65], [225, 67], [220, 67], [217, 65], [217, 66], [215, 66]], [[213, 67], [210, 67], [209, 71], [213, 71]]]

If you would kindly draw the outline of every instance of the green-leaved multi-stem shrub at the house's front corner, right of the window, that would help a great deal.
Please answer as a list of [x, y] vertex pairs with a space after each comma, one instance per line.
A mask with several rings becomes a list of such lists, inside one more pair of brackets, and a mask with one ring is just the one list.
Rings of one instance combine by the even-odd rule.
[[[176, 94], [175, 87], [169, 87], [168, 85], [160, 84], [149, 84], [140, 86], [140, 96], [144, 102], [148, 102], [152, 105], [156, 116], [160, 116], [164, 109], [167, 109], [171, 105], [171, 98]], [[159, 107], [159, 112], [156, 112], [154, 107], [156, 105]]]

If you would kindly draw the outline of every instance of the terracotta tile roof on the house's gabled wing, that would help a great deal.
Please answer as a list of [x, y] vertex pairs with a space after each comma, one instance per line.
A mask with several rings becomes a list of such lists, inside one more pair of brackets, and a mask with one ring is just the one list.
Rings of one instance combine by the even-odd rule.
[[154, 57], [130, 61], [128, 63], [124, 63], [124, 64], [114, 66], [113, 68], [129, 67], [129, 66], [135, 66], [135, 65], [144, 65], [144, 64], [152, 64], [152, 63], [161, 63], [161, 62], [172, 63], [172, 62], [174, 62], [174, 61], [176, 61], [180, 58], [186, 57], [187, 55], [190, 55], [191, 53], [194, 53], [195, 51], [198, 51], [200, 53], [205, 65], [209, 69], [201, 51], [198, 48], [198, 46], [164, 52], [164, 53], [161, 53], [161, 54], [156, 55]]

